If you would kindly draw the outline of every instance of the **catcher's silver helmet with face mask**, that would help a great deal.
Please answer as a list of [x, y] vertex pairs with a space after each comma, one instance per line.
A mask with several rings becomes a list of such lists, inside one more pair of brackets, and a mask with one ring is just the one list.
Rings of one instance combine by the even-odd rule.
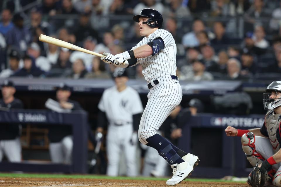
[[[266, 93], [263, 93], [263, 109], [275, 109], [281, 106], [281, 81], [270, 83], [266, 89]], [[270, 98], [270, 95], [274, 92], [275, 97]], [[279, 97], [278, 97], [279, 96]]]

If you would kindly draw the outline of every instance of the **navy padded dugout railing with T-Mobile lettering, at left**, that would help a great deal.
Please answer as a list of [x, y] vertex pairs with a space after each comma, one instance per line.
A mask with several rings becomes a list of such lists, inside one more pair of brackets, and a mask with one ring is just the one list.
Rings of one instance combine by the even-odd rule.
[[87, 173], [88, 155], [88, 113], [80, 110], [72, 113], [57, 113], [49, 110], [19, 110], [0, 111], [1, 124], [36, 124], [40, 125], [70, 125], [73, 134], [72, 163], [70, 165], [22, 161], [11, 163], [0, 162], [0, 171], [22, 172], [62, 172]]

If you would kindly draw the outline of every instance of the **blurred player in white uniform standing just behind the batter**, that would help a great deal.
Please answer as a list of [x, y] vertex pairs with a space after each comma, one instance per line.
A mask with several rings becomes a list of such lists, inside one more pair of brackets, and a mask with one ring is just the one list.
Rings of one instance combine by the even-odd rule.
[[98, 105], [100, 113], [97, 131], [102, 131], [106, 120], [109, 122], [106, 145], [107, 175], [118, 175], [119, 159], [123, 151], [126, 157], [127, 176], [136, 176], [137, 131], [143, 105], [138, 92], [126, 85], [128, 75], [125, 69], [115, 68], [113, 77], [115, 86], [103, 92]]

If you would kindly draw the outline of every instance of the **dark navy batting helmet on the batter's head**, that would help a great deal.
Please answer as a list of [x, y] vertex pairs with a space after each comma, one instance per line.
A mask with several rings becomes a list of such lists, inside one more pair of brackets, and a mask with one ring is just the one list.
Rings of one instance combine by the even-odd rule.
[[[163, 24], [163, 17], [160, 14], [160, 12], [153, 10], [151, 8], [144, 8], [140, 11], [140, 15], [135, 15], [133, 17], [133, 20], [135, 22], [139, 22], [138, 18], [145, 17], [149, 18], [146, 22], [143, 22], [143, 24], [147, 24], [152, 28], [159, 27], [159, 29], [162, 27]], [[154, 23], [151, 23], [154, 22]]]

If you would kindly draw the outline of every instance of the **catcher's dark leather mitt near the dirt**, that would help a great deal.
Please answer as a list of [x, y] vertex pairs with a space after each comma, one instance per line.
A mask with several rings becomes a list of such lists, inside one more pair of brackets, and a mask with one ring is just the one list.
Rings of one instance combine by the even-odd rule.
[[262, 187], [265, 181], [268, 180], [266, 172], [270, 167], [271, 165], [267, 160], [262, 163], [260, 168], [258, 167], [258, 164], [256, 164], [253, 167], [253, 170], [250, 173], [247, 182], [253, 187]]

